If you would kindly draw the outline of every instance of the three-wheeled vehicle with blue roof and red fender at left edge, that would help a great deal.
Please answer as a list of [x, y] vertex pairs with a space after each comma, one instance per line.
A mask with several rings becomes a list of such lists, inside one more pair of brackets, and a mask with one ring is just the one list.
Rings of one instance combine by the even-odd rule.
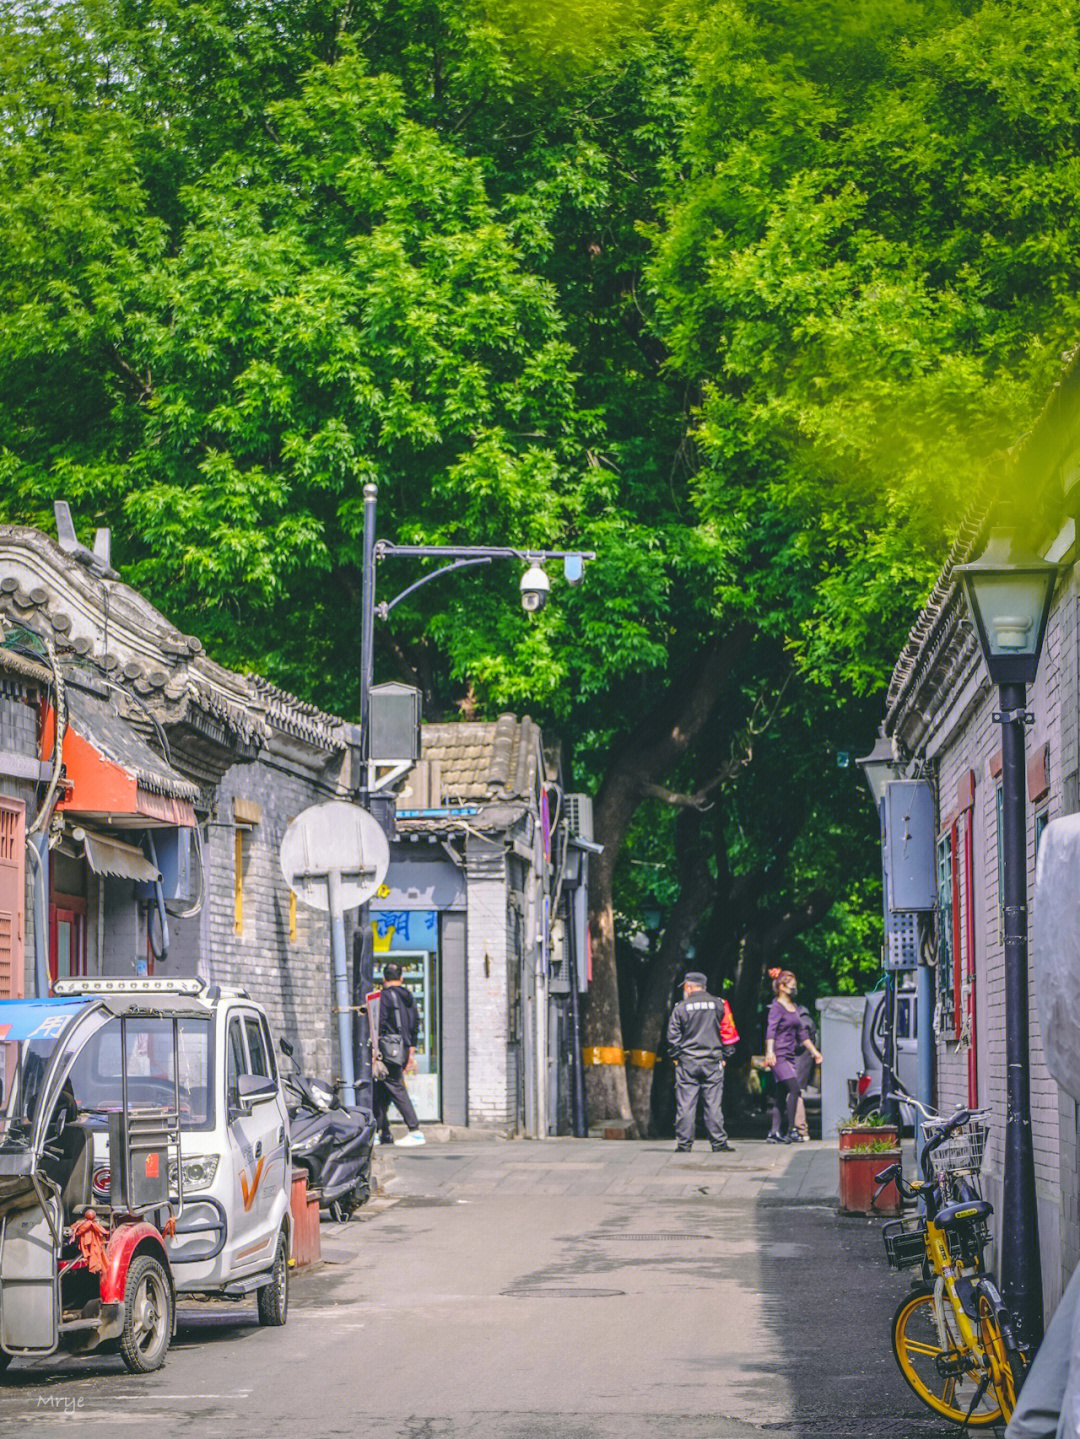
[[[0, 1370], [14, 1356], [115, 1343], [129, 1370], [161, 1366], [175, 1327], [165, 1236], [183, 1215], [178, 1017], [171, 1072], [132, 1073], [135, 996], [0, 1002]], [[75, 1104], [72, 1075], [102, 1042], [119, 1089]], [[93, 1128], [109, 1135], [108, 1193], [93, 1193]], [[180, 1167], [183, 1170], [183, 1166]], [[178, 1170], [174, 1164], [174, 1174]]]

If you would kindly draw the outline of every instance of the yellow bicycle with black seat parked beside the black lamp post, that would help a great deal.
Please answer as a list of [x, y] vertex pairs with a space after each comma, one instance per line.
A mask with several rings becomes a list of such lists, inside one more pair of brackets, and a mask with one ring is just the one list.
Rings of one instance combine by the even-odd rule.
[[1024, 1379], [1017, 1325], [982, 1263], [994, 1213], [975, 1189], [984, 1115], [928, 1117], [922, 1180], [906, 1183], [899, 1164], [874, 1176], [882, 1187], [896, 1180], [900, 1194], [923, 1207], [882, 1232], [894, 1269], [922, 1269], [893, 1318], [896, 1363], [935, 1413], [972, 1427], [1008, 1422]]

